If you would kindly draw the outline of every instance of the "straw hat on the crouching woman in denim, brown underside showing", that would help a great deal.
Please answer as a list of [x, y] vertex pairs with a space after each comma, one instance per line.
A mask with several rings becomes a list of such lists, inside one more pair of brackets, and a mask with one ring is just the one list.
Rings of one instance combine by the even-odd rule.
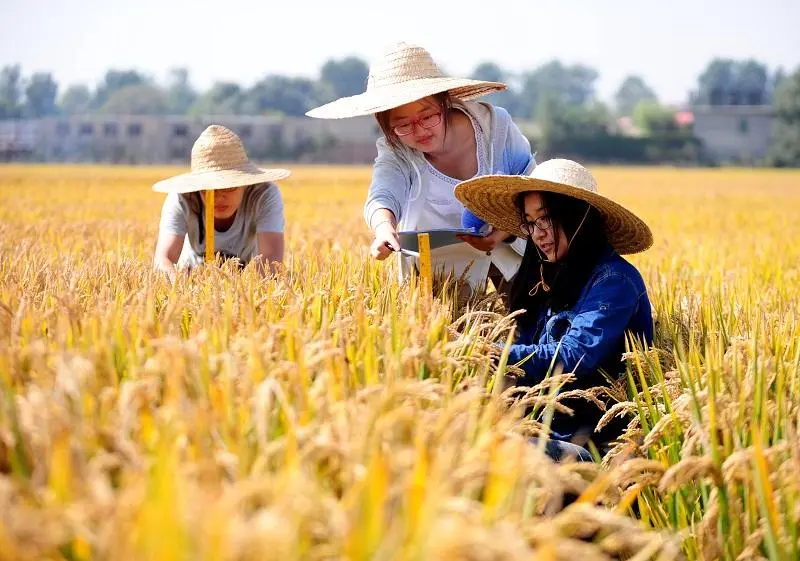
[[473, 214], [495, 228], [521, 238], [517, 196], [527, 191], [546, 191], [586, 201], [603, 216], [609, 243], [617, 253], [644, 251], [653, 245], [653, 234], [631, 211], [597, 192], [592, 173], [572, 160], [553, 159], [537, 165], [528, 175], [487, 175], [461, 182], [455, 195]]

